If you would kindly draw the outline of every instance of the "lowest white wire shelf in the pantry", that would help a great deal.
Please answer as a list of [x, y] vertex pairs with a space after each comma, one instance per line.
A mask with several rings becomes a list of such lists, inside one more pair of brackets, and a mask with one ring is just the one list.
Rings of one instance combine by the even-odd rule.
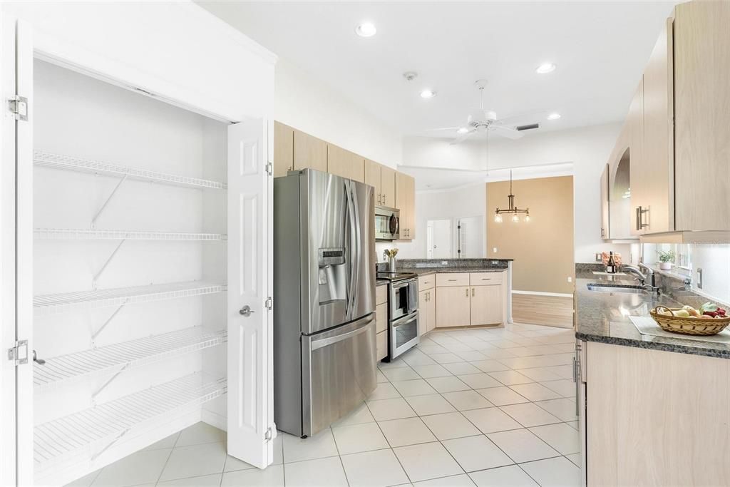
[[97, 456], [129, 432], [157, 426], [226, 392], [226, 379], [200, 373], [82, 410], [34, 429], [36, 471], [76, 456]]

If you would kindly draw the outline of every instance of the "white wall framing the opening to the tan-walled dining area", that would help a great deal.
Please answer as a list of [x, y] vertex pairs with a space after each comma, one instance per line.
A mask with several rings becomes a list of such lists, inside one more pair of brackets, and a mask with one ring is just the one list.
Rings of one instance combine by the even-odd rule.
[[[620, 252], [623, 261], [629, 261], [630, 245], [606, 244], [601, 239], [599, 180], [620, 129], [621, 124], [609, 123], [580, 129], [527, 134], [523, 139], [516, 141], [507, 139], [489, 141], [486, 160], [490, 171], [509, 167], [572, 163], [576, 262], [593, 262], [595, 253], [602, 250]], [[404, 164], [485, 169], [485, 156], [481, 145], [472, 147], [472, 157], [469, 158], [462, 149], [450, 149], [449, 147], [458, 146], [448, 146], [448, 142], [418, 139], [405, 140]], [[455, 150], [458, 152], [453, 152]], [[469, 153], [469, 149], [466, 153]], [[536, 169], [535, 173], [538, 172]], [[529, 171], [523, 173], [525, 173], [523, 177], [529, 177]], [[477, 204], [477, 200], [473, 199], [470, 204]], [[480, 199], [478, 204], [484, 206], [484, 199]], [[418, 206], [417, 199], [417, 212]], [[419, 232], [418, 238], [420, 237]], [[425, 238], [425, 235], [423, 237]], [[420, 249], [421, 244], [414, 242], [410, 245]], [[635, 258], [636, 256], [634, 260]]]

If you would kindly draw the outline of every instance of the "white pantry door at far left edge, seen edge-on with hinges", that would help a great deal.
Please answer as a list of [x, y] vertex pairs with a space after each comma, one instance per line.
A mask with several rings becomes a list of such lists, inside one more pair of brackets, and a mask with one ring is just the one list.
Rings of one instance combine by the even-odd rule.
[[[18, 105], [18, 117], [9, 100]], [[24, 101], [24, 100], [23, 100]], [[33, 483], [33, 46], [0, 15], [0, 485]], [[23, 115], [23, 116], [20, 116]], [[18, 346], [18, 355], [10, 360]]]

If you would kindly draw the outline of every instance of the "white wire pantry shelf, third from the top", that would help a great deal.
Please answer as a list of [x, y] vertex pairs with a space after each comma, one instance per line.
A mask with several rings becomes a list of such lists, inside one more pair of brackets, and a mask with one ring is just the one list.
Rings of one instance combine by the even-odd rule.
[[98, 291], [42, 294], [34, 296], [33, 307], [36, 316], [43, 316], [77, 309], [96, 309], [121, 306], [122, 304], [202, 296], [204, 294], [220, 293], [225, 290], [225, 284], [204, 283], [201, 281], [137, 285], [127, 288], [100, 289]]

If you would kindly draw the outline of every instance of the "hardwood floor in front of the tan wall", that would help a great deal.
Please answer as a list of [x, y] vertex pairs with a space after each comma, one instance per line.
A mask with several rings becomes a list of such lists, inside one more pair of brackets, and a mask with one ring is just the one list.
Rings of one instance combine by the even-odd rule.
[[512, 321], [533, 325], [573, 326], [573, 298], [512, 294]]

